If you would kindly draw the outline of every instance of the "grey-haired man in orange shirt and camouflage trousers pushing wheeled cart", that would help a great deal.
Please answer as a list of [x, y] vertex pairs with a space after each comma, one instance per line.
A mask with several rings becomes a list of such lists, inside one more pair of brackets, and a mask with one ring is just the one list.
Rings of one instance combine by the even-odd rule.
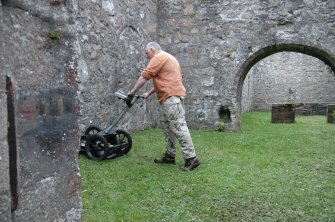
[[146, 99], [153, 93], [157, 95], [163, 113], [162, 123], [166, 146], [164, 156], [155, 159], [154, 162], [176, 164], [176, 140], [178, 140], [185, 160], [181, 169], [193, 170], [200, 165], [200, 161], [196, 158], [192, 138], [185, 121], [183, 99], [186, 90], [182, 83], [179, 63], [175, 57], [164, 52], [156, 42], [149, 42], [145, 53], [150, 61], [128, 95], [134, 96], [148, 80], [153, 80], [154, 87], [144, 93], [143, 97]]

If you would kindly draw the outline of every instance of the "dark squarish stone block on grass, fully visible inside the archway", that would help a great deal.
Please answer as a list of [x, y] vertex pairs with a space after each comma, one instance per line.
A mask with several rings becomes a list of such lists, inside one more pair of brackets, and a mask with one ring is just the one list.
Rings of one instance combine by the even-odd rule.
[[295, 122], [294, 104], [272, 104], [271, 122], [294, 123]]

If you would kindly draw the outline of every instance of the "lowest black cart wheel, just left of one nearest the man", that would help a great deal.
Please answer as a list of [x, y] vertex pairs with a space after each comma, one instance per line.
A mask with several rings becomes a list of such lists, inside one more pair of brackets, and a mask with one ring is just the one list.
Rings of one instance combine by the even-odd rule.
[[109, 153], [109, 145], [104, 136], [93, 134], [87, 138], [85, 151], [92, 160], [103, 160]]

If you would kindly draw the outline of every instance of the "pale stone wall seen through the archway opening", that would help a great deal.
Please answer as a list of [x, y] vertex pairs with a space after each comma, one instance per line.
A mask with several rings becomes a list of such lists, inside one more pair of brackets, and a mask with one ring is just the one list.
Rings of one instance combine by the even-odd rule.
[[283, 52], [257, 63], [243, 85], [245, 110], [270, 110], [275, 103], [335, 103], [335, 75], [321, 60]]

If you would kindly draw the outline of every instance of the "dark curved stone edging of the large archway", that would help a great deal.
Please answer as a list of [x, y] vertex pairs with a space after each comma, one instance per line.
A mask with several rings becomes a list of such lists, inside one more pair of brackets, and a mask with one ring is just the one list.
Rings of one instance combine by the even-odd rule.
[[335, 58], [331, 54], [329, 54], [326, 50], [323, 50], [321, 48], [317, 48], [314, 46], [308, 46], [303, 44], [295, 44], [295, 43], [285, 43], [285, 44], [275, 44], [266, 46], [258, 51], [256, 51], [254, 54], [252, 54], [240, 67], [237, 75], [236, 75], [236, 102], [237, 102], [237, 115], [236, 115], [236, 122], [232, 123], [233, 127], [239, 128], [240, 124], [240, 116], [241, 116], [241, 101], [242, 101], [242, 88], [244, 80], [249, 72], [249, 70], [260, 60], [278, 53], [278, 52], [297, 52], [302, 53], [306, 55], [310, 55], [313, 57], [316, 57], [323, 61], [326, 65], [328, 65], [331, 70], [335, 73]]

